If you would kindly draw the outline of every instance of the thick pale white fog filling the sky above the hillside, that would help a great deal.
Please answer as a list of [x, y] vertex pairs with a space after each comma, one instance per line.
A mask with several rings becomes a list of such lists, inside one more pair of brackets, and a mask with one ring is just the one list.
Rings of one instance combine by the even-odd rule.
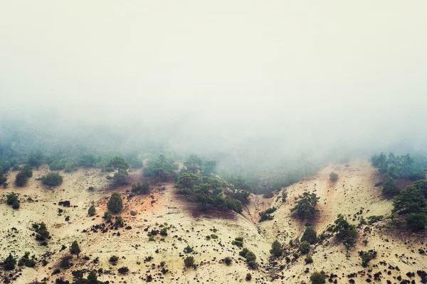
[[257, 163], [424, 149], [426, 9], [2, 1], [0, 119], [82, 139], [108, 129], [132, 145]]

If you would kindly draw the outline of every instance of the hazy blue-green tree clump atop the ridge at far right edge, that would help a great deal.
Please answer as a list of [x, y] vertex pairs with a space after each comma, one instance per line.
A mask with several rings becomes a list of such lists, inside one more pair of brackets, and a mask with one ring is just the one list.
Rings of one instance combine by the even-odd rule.
[[408, 178], [421, 180], [426, 177], [423, 172], [427, 168], [427, 160], [424, 156], [394, 155], [394, 153], [380, 153], [371, 157], [371, 163], [378, 168], [379, 173], [390, 175], [391, 178]]

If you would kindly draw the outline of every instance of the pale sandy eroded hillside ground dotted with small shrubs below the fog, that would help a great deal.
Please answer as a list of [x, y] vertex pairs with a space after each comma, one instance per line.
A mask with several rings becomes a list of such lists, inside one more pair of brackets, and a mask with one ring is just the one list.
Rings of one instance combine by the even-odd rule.
[[[337, 182], [330, 182], [329, 174], [334, 171], [339, 174]], [[281, 192], [273, 198], [265, 199], [262, 196], [252, 196], [251, 202], [245, 207], [243, 214], [228, 214], [226, 218], [218, 218], [221, 212], [209, 212], [195, 215], [196, 205], [187, 202], [183, 197], [177, 197], [172, 183], [152, 184], [151, 195], [136, 195], [129, 198], [130, 187], [121, 187], [124, 210], [122, 217], [125, 226], [118, 229], [102, 229], [91, 231], [91, 227], [104, 223], [102, 215], [106, 210], [107, 197], [111, 190], [105, 173], [100, 170], [79, 169], [74, 173], [61, 173], [64, 182], [58, 187], [43, 187], [35, 178], [48, 173], [47, 168], [35, 170], [33, 178], [23, 188], [9, 185], [1, 189], [1, 195], [7, 192], [20, 194], [21, 208], [11, 209], [4, 202], [0, 204], [2, 224], [0, 230], [1, 251], [0, 258], [4, 259], [9, 252], [21, 257], [24, 251], [29, 251], [41, 259], [46, 251], [51, 255], [46, 257], [47, 266], [38, 263], [36, 268], [20, 268], [19, 277], [13, 283], [30, 283], [32, 280], [43, 278], [51, 283], [56, 278], [63, 277], [72, 280], [71, 271], [78, 269], [99, 270], [104, 273], [99, 280], [109, 280], [110, 283], [145, 283], [151, 275], [155, 283], [246, 283], [246, 273], [252, 273], [251, 283], [310, 283], [308, 280], [312, 271], [325, 271], [337, 275], [332, 280], [337, 283], [349, 283], [347, 275], [357, 273], [352, 277], [355, 283], [366, 283], [369, 275], [381, 271], [381, 280], [391, 280], [391, 283], [400, 283], [396, 280], [401, 275], [417, 270], [427, 270], [427, 256], [418, 253], [418, 249], [425, 239], [423, 235], [401, 234], [396, 236], [394, 230], [385, 229], [377, 223], [359, 229], [357, 247], [345, 251], [344, 246], [337, 244], [334, 238], [325, 239], [312, 249], [313, 263], [306, 265], [304, 256], [300, 256], [294, 263], [287, 264], [283, 258], [269, 263], [270, 244], [278, 239], [286, 244], [285, 251], [293, 252], [295, 248], [288, 246], [289, 241], [302, 235], [305, 222], [300, 222], [290, 214], [290, 208], [295, 204], [295, 197], [302, 192], [315, 192], [320, 197], [319, 214], [310, 220], [317, 232], [321, 232], [332, 224], [337, 214], [345, 214], [349, 221], [357, 224], [361, 216], [389, 214], [391, 201], [381, 197], [381, 188], [374, 187], [381, 177], [364, 160], [357, 160], [349, 165], [327, 165], [320, 172], [302, 182], [284, 188], [288, 192], [286, 202], [281, 201]], [[16, 173], [9, 174], [9, 181], [14, 180]], [[142, 180], [140, 171], [132, 172], [132, 182]], [[95, 191], [89, 192], [90, 186]], [[27, 202], [31, 197], [33, 202]], [[70, 200], [71, 207], [58, 206], [59, 201]], [[95, 217], [87, 215], [90, 202], [94, 201], [97, 207]], [[76, 206], [76, 207], [75, 207]], [[271, 221], [258, 223], [258, 213], [270, 206], [278, 207], [273, 213]], [[58, 209], [64, 212], [58, 214]], [[362, 210], [362, 211], [361, 211]], [[131, 211], [136, 212], [132, 216]], [[359, 214], [357, 214], [359, 212]], [[360, 213], [362, 212], [362, 213]], [[69, 216], [70, 220], [65, 221]], [[196, 217], [194, 217], [196, 216]], [[31, 224], [45, 222], [52, 239], [48, 246], [39, 246], [35, 240]], [[152, 229], [162, 229], [166, 226], [167, 236], [155, 236], [149, 241], [147, 232]], [[127, 228], [126, 228], [127, 227]], [[15, 229], [12, 229], [15, 228]], [[118, 236], [117, 233], [120, 233]], [[206, 239], [206, 236], [216, 234], [218, 239]], [[243, 259], [238, 256], [237, 246], [231, 241], [243, 236], [244, 246], [251, 249], [260, 263], [258, 271], [247, 268]], [[362, 240], [367, 239], [364, 246]], [[60, 258], [68, 254], [68, 247], [78, 241], [82, 253], [73, 258], [73, 267], [60, 269], [60, 273], [52, 275], [58, 268]], [[62, 246], [67, 248], [61, 251]], [[194, 248], [197, 268], [184, 268], [184, 247]], [[378, 252], [376, 259], [371, 261], [369, 268], [362, 268], [358, 251], [375, 249]], [[89, 260], [83, 257], [88, 256]], [[119, 256], [120, 260], [113, 266], [108, 260], [110, 256]], [[226, 256], [233, 258], [231, 266], [226, 266], [221, 259]], [[150, 259], [151, 258], [151, 259]], [[160, 263], [164, 261], [162, 273]], [[384, 262], [386, 264], [384, 264]], [[381, 264], [380, 264], [381, 262]], [[389, 266], [399, 266], [400, 271], [391, 270]], [[122, 275], [118, 268], [127, 266], [130, 272]], [[306, 269], [309, 268], [309, 273]], [[387, 273], [391, 271], [388, 275]], [[359, 273], [358, 273], [359, 272]], [[418, 276], [415, 278], [419, 283]], [[375, 281], [373, 276], [372, 282]]]

